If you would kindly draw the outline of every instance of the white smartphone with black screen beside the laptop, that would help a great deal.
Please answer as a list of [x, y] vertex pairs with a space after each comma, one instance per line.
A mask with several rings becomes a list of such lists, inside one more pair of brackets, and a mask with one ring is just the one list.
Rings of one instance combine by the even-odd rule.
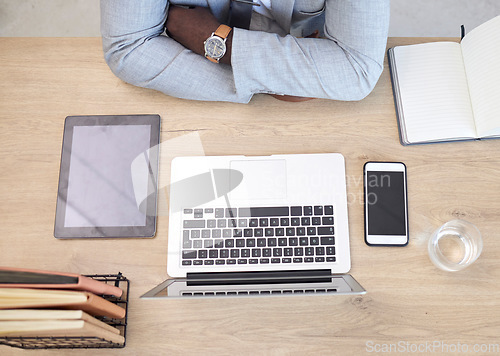
[[406, 246], [406, 166], [401, 162], [366, 162], [363, 171], [366, 244]]

